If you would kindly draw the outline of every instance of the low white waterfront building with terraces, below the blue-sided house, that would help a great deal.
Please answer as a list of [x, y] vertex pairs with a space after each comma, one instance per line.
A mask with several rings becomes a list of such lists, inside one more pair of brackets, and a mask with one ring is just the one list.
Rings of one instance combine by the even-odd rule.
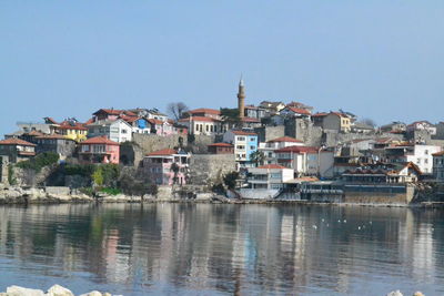
[[266, 164], [249, 169], [249, 185], [252, 190], [281, 190], [293, 180], [293, 170], [278, 164]]

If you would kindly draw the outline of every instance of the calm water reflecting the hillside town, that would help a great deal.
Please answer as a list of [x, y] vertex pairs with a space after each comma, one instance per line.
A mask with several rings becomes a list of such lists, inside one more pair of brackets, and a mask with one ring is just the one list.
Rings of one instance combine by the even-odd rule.
[[[346, 220], [346, 223], [344, 223]], [[339, 222], [341, 221], [341, 222]], [[315, 225], [315, 226], [313, 226]], [[444, 295], [444, 212], [268, 205], [0, 207], [0, 289]]]

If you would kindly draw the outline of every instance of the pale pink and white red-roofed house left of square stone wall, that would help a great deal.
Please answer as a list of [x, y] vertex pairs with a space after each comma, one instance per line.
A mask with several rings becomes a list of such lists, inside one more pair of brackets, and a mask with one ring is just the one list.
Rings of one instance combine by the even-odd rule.
[[190, 154], [164, 149], [149, 153], [143, 167], [149, 178], [159, 185], [185, 184]]

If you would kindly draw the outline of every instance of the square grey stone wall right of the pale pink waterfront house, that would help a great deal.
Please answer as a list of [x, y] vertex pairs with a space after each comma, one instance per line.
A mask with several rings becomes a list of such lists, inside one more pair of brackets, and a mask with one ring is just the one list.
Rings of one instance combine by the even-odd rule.
[[236, 170], [234, 154], [193, 154], [190, 159], [190, 184], [213, 185]]

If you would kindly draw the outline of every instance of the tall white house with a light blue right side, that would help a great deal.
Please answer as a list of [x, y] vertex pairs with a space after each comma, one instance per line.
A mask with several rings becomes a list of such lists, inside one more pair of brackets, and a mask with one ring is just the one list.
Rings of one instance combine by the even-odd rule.
[[258, 135], [249, 131], [231, 130], [223, 134], [223, 142], [234, 145], [234, 157], [241, 166], [252, 166], [251, 154], [258, 150]]

